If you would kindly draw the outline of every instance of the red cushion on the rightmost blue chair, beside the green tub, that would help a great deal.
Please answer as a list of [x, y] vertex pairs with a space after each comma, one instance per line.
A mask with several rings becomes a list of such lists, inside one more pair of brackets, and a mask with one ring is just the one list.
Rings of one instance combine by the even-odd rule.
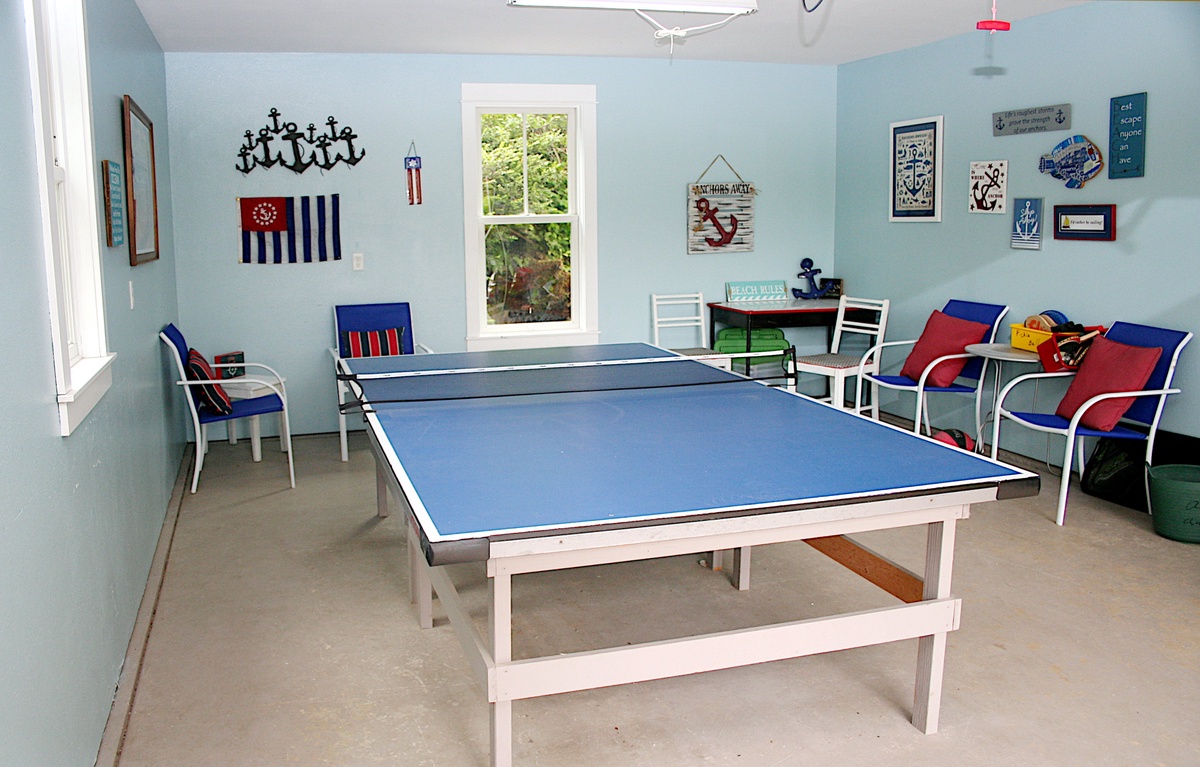
[[[1074, 418], [1084, 402], [1098, 394], [1140, 390], [1150, 380], [1162, 355], [1163, 349], [1157, 346], [1128, 346], [1097, 336], [1055, 413], [1067, 419]], [[1133, 397], [1112, 397], [1097, 402], [1087, 408], [1079, 423], [1088, 429], [1112, 431], [1133, 403]]]

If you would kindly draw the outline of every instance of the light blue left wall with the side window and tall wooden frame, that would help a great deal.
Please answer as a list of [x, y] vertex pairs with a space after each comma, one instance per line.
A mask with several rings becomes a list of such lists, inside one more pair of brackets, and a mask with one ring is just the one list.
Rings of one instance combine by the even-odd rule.
[[[161, 125], [166, 85], [132, 0], [91, 0], [88, 12], [98, 181], [98, 161], [120, 157], [120, 95], [133, 94]], [[0, 2], [0, 765], [91, 765], [182, 450], [154, 335], [176, 311], [167, 138], [158, 138], [166, 256], [131, 270], [124, 252], [104, 248], [114, 385], [62, 438], [20, 0]]]

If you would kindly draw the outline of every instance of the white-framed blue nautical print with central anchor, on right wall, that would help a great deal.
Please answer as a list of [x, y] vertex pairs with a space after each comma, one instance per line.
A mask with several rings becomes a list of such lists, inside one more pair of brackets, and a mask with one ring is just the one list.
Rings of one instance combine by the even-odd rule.
[[892, 124], [888, 221], [942, 220], [942, 116]]

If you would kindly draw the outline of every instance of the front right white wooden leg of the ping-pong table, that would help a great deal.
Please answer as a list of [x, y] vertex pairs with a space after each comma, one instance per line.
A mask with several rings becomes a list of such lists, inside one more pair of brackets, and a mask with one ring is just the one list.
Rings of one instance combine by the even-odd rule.
[[[950, 595], [954, 567], [954, 520], [932, 522], [925, 537], [924, 599]], [[942, 708], [942, 677], [946, 671], [946, 633], [917, 640], [917, 685], [913, 693], [912, 724], [924, 732], [937, 732]]]

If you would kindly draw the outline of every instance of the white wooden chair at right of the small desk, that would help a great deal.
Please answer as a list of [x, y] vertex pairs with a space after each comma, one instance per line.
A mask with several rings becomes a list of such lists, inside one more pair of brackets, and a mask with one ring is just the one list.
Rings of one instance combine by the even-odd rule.
[[[808, 354], [796, 358], [796, 374], [803, 373], [824, 376], [829, 379], [829, 396], [818, 397], [832, 401], [835, 407], [845, 407], [846, 380], [858, 374], [859, 368], [866, 373], [880, 372], [880, 353], [874, 348], [883, 341], [883, 334], [888, 326], [888, 299], [860, 299], [842, 295], [838, 299], [838, 319], [833, 328], [833, 342], [829, 344], [827, 354]], [[871, 312], [872, 319], [856, 319], [859, 312]], [[847, 314], [850, 318], [847, 318]], [[846, 353], [842, 350], [842, 342], [847, 335], [862, 335], [866, 337], [865, 349], [874, 350], [870, 359], [864, 353]], [[857, 393], [857, 389], [856, 389]], [[877, 411], [880, 390], [872, 383], [871, 403], [862, 406], [853, 403], [856, 413], [863, 411]]]

